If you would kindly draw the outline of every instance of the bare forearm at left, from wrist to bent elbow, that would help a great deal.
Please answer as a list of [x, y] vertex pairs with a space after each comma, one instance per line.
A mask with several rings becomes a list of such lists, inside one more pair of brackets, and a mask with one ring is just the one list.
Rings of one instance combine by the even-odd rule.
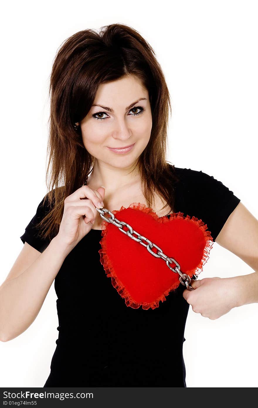
[[[0, 340], [23, 333], [37, 317], [64, 259], [71, 251], [58, 237], [26, 270], [0, 286]], [[34, 249], [34, 248], [33, 248]]]

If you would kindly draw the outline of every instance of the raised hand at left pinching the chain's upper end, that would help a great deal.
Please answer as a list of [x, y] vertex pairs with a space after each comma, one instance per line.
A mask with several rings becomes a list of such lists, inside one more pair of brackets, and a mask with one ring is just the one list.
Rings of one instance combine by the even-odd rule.
[[91, 230], [97, 215], [97, 208], [104, 206], [105, 188], [93, 190], [82, 186], [64, 200], [64, 213], [57, 238], [73, 249]]

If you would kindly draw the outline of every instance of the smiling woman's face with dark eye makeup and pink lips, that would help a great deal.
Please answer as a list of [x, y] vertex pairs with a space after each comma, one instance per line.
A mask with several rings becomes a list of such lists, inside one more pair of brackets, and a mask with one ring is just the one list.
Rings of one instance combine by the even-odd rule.
[[[98, 162], [130, 168], [150, 140], [152, 115], [148, 91], [135, 76], [101, 84], [80, 126], [84, 146]], [[126, 151], [110, 149], [132, 144], [132, 149]]]

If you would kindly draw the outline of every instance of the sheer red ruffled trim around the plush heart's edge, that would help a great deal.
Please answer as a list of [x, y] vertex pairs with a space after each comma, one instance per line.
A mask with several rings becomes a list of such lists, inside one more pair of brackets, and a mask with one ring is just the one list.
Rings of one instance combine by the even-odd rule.
[[[186, 217], [183, 215], [183, 213], [178, 212], [178, 213], [170, 213], [170, 218], [168, 218], [167, 216], [163, 216], [163, 217], [158, 217], [158, 215], [152, 211], [152, 208], [146, 207], [145, 204], [141, 204], [141, 203], [132, 203], [129, 205], [130, 208], [134, 208], [135, 210], [139, 210], [142, 211], [143, 213], [146, 214], [150, 214], [155, 220], [159, 220], [158, 222], [161, 223], [166, 223], [166, 222], [170, 222], [170, 220], [174, 219], [174, 218], [182, 218], [187, 220], [188, 222], [193, 222], [194, 224], [196, 224], [196, 226], [198, 226], [199, 228], [201, 228], [201, 230], [203, 231], [203, 235], [204, 235], [204, 239], [205, 239], [205, 248], [203, 250], [203, 257], [201, 259], [201, 261], [199, 262], [199, 264], [196, 266], [196, 268], [193, 268], [187, 272], [187, 275], [190, 276], [190, 278], [192, 278], [192, 276], [195, 275], [199, 275], [202, 271], [203, 271], [203, 265], [207, 262], [207, 260], [209, 259], [209, 251], [211, 250], [212, 246], [213, 246], [213, 238], [212, 235], [210, 233], [210, 231], [207, 231], [207, 225], [202, 221], [199, 220], [196, 217], [190, 217], [190, 215], [186, 215]], [[128, 207], [128, 208], [129, 208]], [[115, 215], [116, 213], [118, 213], [119, 211], [122, 211], [124, 209], [126, 209], [127, 207], [121, 206], [120, 210], [114, 210], [112, 211], [112, 213]], [[130, 306], [132, 308], [139, 308], [140, 306], [142, 306], [143, 309], [147, 310], [150, 307], [152, 309], [159, 307], [159, 302], [164, 302], [166, 300], [165, 296], [168, 296], [168, 294], [171, 292], [171, 290], [175, 290], [179, 284], [180, 281], [178, 280], [178, 282], [176, 282], [175, 284], [173, 284], [168, 290], [165, 291], [165, 293], [161, 294], [154, 302], [151, 303], [147, 303], [147, 302], [143, 302], [143, 303], [138, 303], [135, 302], [131, 297], [130, 294], [128, 293], [128, 291], [126, 290], [126, 288], [123, 286], [123, 284], [120, 282], [120, 280], [118, 279], [114, 269], [112, 268], [112, 262], [110, 262], [110, 259], [108, 257], [107, 254], [107, 248], [106, 248], [106, 233], [107, 231], [107, 226], [108, 224], [110, 224], [109, 222], [103, 220], [102, 224], [101, 224], [101, 249], [99, 250], [99, 254], [100, 254], [100, 262], [104, 267], [104, 270], [106, 271], [106, 275], [107, 277], [111, 278], [111, 282], [112, 282], [112, 286], [114, 286], [114, 288], [117, 290], [117, 292], [119, 293], [119, 295], [121, 297], [123, 297], [125, 299], [126, 302], [126, 306]], [[128, 237], [129, 238], [129, 237]]]

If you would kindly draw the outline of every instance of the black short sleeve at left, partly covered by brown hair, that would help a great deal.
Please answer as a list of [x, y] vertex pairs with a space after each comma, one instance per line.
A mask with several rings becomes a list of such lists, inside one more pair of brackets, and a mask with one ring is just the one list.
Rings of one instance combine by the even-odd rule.
[[37, 222], [40, 222], [46, 215], [47, 211], [49, 211], [50, 209], [48, 200], [46, 200], [44, 205], [43, 200], [44, 198], [37, 206], [37, 211], [34, 217], [29, 222], [29, 224], [26, 226], [24, 234], [20, 237], [23, 244], [27, 242], [28, 244], [33, 246], [33, 248], [37, 249], [37, 251], [40, 251], [41, 253], [46, 249], [46, 247], [51, 242], [51, 239], [42, 239], [41, 237], [39, 237], [38, 236], [39, 230], [35, 228]]

